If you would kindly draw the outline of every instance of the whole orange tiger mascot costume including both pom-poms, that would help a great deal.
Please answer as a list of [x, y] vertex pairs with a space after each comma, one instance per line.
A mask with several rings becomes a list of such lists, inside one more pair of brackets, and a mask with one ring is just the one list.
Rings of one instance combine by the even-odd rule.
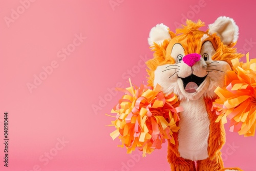
[[254, 136], [256, 119], [256, 61], [240, 62], [238, 26], [219, 17], [207, 31], [204, 23], [186, 21], [176, 33], [163, 24], [150, 31], [154, 58], [146, 61], [148, 85], [131, 83], [119, 89], [124, 96], [113, 108], [121, 147], [143, 156], [168, 141], [172, 171], [242, 170], [224, 168], [221, 148], [223, 124], [230, 131]]

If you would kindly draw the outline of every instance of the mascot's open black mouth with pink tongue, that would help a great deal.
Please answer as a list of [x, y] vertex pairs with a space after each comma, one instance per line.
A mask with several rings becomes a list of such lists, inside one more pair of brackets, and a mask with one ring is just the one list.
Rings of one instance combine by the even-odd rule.
[[179, 77], [179, 78], [181, 78], [181, 80], [183, 81], [184, 90], [187, 93], [195, 93], [197, 88], [205, 80], [206, 76], [205, 77], [198, 77], [194, 74], [191, 74], [186, 78], [181, 78], [181, 77]]

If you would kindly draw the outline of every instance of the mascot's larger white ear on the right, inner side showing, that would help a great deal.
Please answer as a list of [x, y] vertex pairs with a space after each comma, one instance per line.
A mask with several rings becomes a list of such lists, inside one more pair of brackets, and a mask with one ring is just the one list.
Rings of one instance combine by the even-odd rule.
[[214, 24], [209, 25], [210, 35], [217, 33], [224, 45], [231, 45], [238, 40], [238, 26], [232, 18], [221, 16], [216, 19]]

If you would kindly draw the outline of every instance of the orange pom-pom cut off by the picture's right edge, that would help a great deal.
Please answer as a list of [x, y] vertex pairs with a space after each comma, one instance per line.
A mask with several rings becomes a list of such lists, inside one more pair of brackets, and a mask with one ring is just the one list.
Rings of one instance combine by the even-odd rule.
[[215, 90], [219, 98], [213, 103], [216, 122], [226, 123], [228, 117], [230, 131], [245, 137], [254, 136], [256, 127], [256, 59], [249, 61], [248, 53], [246, 58], [246, 63], [231, 61], [232, 71], [227, 72], [225, 87]]

